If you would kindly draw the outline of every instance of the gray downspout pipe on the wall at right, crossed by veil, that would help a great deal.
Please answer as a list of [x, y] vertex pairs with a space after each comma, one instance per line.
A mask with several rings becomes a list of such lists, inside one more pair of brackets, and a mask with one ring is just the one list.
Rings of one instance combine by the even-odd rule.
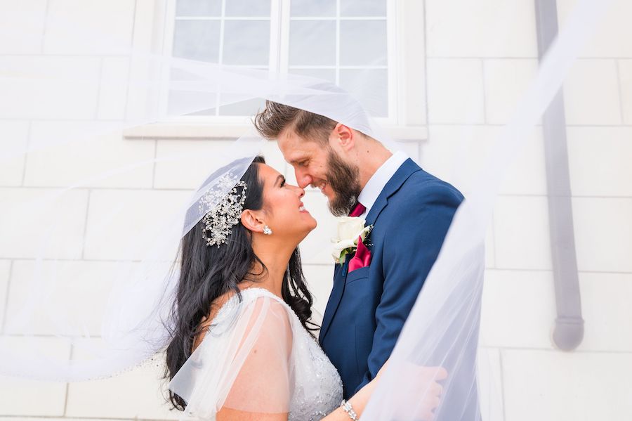
[[[538, 56], [541, 60], [558, 34], [557, 1], [535, 0], [535, 9]], [[544, 113], [542, 125], [557, 309], [553, 342], [559, 349], [572, 351], [584, 339], [584, 319], [581, 318], [562, 89], [558, 91]]]

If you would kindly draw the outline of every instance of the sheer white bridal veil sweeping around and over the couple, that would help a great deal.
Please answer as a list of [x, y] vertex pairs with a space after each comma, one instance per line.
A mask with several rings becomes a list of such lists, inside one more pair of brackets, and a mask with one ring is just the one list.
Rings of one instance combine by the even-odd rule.
[[[419, 384], [419, 371], [414, 368], [436, 365], [444, 367], [449, 377], [443, 382], [442, 404], [435, 412], [435, 420], [478, 420], [479, 410], [485, 420], [496, 418], [499, 391], [477, 386], [480, 377], [491, 377], [487, 372], [489, 367], [477, 360], [485, 232], [503, 174], [518, 154], [529, 129], [537, 124], [560, 88], [572, 60], [607, 3], [579, 1], [561, 27], [560, 37], [542, 61], [536, 80], [497, 139], [485, 172], [456, 213], [440, 256], [404, 325], [383, 382], [362, 415], [363, 420], [418, 419], [424, 408], [416, 404], [423, 402], [420, 396], [427, 391]], [[44, 19], [48, 27], [63, 28], [69, 39], [83, 38], [86, 42], [89, 39], [107, 52], [96, 54], [93, 61], [80, 62], [41, 51], [0, 57], [0, 119], [41, 122], [31, 126], [27, 143], [2, 141], [0, 160], [8, 162], [25, 155], [41, 156], [51, 150], [93, 145], [97, 162], [98, 152], [108, 147], [108, 136], [112, 133], [254, 98], [325, 115], [378, 139], [392, 150], [397, 148], [371, 117], [371, 110], [363, 107], [353, 94], [329, 82], [185, 60], [157, 51], [138, 51], [118, 43], [113, 34], [82, 25], [81, 10], [41, 18], [19, 10], [18, 6], [15, 8], [18, 10], [4, 13], [2, 19], [6, 25], [1, 31], [16, 43], [32, 39], [34, 25], [41, 27], [38, 19]], [[130, 71], [124, 77], [95, 71], [99, 60], [112, 57], [129, 63]], [[125, 92], [121, 96], [99, 97], [101, 108], [124, 112], [115, 118], [100, 115], [91, 108], [91, 93], [96, 91]], [[169, 97], [169, 110], [164, 105], [165, 96]], [[4, 202], [11, 209], [10, 224], [23, 229], [12, 230], [15, 237], [3, 236], [2, 241], [20, 244], [16, 256], [22, 253], [32, 257], [34, 270], [21, 287], [23, 296], [4, 309], [0, 373], [63, 382], [90, 380], [128, 370], [162, 351], [169, 341], [164, 326], [169, 324], [178, 280], [177, 271], [172, 270], [174, 264], [177, 266], [177, 247], [183, 234], [203, 216], [198, 209], [199, 198], [209, 189], [217, 188], [218, 179], [227, 174], [237, 182], [264, 144], [265, 140], [256, 134], [246, 134], [222, 153], [209, 157], [209, 176], [193, 193], [174, 194], [178, 202], [171, 209], [157, 207], [145, 219], [138, 219], [132, 209], [139, 201], [147, 200], [147, 196], [136, 197], [132, 193], [126, 202], [112, 203], [95, 232], [65, 232], [65, 221], [84, 217], [86, 209], [61, 214], [51, 214], [48, 209], [59, 202], [72, 202], [76, 194], [83, 194], [82, 188], [98, 186], [104, 180], [117, 179], [121, 187], [134, 188], [131, 183], [126, 184], [126, 174], [159, 161], [185, 162], [192, 154], [155, 157], [107, 168], [88, 179], [70, 174], [52, 193], [43, 191], [41, 195], [17, 196]], [[107, 194], [101, 195], [100, 200], [107, 200]], [[111, 229], [117, 224], [122, 228]], [[36, 231], [33, 225], [37, 225]], [[37, 236], [25, 242], [21, 235], [29, 233]], [[61, 247], [58, 240], [64, 235], [73, 238]], [[120, 247], [107, 262], [107, 279], [103, 282], [110, 294], [107, 307], [98, 320], [93, 320], [93, 316], [86, 315], [91, 312], [90, 304], [96, 294], [102, 294], [103, 290], [86, 287], [84, 277], [88, 273], [72, 273], [67, 261], [89, 258], [84, 236], [100, 235]], [[41, 349], [38, 336], [43, 330], [72, 345], [70, 358], [65, 353], [51, 357], [46, 349]], [[246, 326], [239, 325], [237, 338], [246, 335], [245, 330]], [[254, 328], [248, 332], [246, 337], [254, 340], [261, 330]], [[13, 347], [16, 337], [31, 341], [28, 351]], [[212, 346], [204, 346], [207, 345]], [[230, 370], [214, 373], [225, 382], [213, 392], [217, 398], [214, 402], [222, 402], [221, 396], [228, 393], [235, 380], [227, 375], [235, 374], [232, 370], [239, 366], [227, 365]], [[195, 380], [190, 379], [192, 383], [180, 386], [180, 390], [188, 390], [193, 396]]]

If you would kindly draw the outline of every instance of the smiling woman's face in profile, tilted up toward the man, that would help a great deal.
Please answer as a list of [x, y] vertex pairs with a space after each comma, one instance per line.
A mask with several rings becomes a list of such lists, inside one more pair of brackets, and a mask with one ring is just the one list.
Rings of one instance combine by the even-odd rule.
[[300, 242], [316, 228], [316, 220], [305, 209], [302, 198], [305, 190], [285, 182], [285, 177], [269, 165], [260, 164], [259, 177], [263, 181], [265, 224], [279, 238]]

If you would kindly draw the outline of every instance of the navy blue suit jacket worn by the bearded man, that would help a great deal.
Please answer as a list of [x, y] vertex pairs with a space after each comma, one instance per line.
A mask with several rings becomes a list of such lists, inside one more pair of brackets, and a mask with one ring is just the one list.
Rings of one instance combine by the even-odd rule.
[[349, 399], [373, 379], [435, 263], [463, 195], [406, 160], [367, 215], [371, 263], [347, 273], [336, 264], [320, 344]]

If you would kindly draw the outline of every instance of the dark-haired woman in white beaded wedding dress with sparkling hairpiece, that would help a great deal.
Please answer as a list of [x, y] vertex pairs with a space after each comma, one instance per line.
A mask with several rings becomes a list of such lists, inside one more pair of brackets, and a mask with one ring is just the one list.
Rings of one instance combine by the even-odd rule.
[[[225, 183], [228, 194], [204, 209], [180, 245], [166, 349], [171, 404], [202, 420], [357, 419], [381, 373], [343, 401], [341, 379], [312, 333], [298, 252], [316, 227], [305, 191], [263, 157], [237, 184]], [[440, 384], [432, 390], [428, 419]]]

